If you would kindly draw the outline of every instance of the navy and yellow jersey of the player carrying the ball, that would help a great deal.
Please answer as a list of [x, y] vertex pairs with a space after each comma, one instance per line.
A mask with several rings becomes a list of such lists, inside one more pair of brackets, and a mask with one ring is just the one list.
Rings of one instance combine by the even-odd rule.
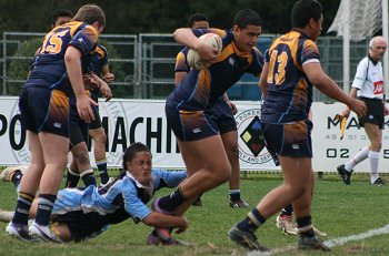
[[[222, 40], [222, 50], [216, 63], [208, 69], [196, 70], [184, 68], [188, 49], [178, 54], [176, 72], [187, 70], [188, 74], [167, 100], [167, 105], [179, 110], [198, 111], [210, 109], [216, 101], [231, 88], [245, 72], [259, 76], [262, 72], [263, 57], [258, 49], [241, 52], [233, 42], [231, 31], [219, 29], [193, 30], [197, 37], [205, 33], [217, 33]], [[183, 61], [184, 60], [184, 61]]]

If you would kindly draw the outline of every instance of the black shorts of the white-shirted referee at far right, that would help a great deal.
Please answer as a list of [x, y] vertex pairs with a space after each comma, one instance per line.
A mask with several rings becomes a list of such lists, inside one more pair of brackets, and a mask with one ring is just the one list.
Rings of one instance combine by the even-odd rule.
[[385, 114], [382, 101], [368, 98], [359, 98], [359, 100], [363, 101], [367, 106], [366, 115], [358, 119], [359, 125], [363, 126], [365, 123], [371, 123], [383, 130]]

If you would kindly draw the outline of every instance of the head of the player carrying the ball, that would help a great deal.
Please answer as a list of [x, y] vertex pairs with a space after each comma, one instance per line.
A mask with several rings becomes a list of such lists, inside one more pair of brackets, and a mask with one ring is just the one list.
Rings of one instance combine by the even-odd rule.
[[251, 9], [241, 10], [233, 19], [232, 33], [238, 49], [242, 52], [249, 52], [262, 33], [262, 20]]

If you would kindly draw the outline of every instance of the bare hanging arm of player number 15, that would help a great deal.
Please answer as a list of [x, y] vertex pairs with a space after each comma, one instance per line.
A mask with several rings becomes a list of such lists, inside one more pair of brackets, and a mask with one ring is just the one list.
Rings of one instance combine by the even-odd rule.
[[64, 64], [71, 88], [73, 89], [77, 99], [77, 111], [83, 121], [90, 123], [92, 120], [94, 120], [93, 111], [90, 104], [92, 103], [97, 105], [97, 103], [84, 93], [80, 59], [81, 52], [78, 49], [73, 47], [69, 47], [67, 49], [64, 53]]

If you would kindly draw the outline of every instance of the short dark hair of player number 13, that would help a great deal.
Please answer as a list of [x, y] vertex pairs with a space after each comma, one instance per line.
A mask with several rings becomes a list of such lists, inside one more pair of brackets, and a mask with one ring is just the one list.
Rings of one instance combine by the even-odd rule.
[[293, 28], [305, 28], [311, 18], [318, 21], [321, 13], [322, 7], [317, 0], [299, 0], [293, 4], [291, 11], [291, 25]]

